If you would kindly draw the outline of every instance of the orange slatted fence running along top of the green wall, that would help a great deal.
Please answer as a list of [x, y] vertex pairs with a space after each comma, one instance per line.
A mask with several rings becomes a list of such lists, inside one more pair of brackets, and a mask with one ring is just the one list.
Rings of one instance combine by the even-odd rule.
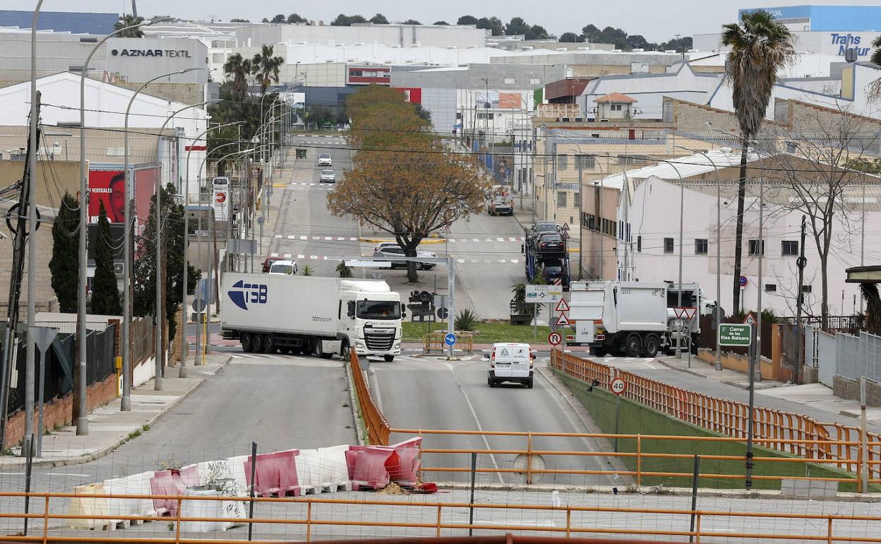
[[[749, 406], [742, 402], [664, 384], [557, 349], [551, 352], [550, 365], [584, 382], [596, 380], [603, 389], [609, 389], [611, 380], [617, 376], [627, 384], [622, 394], [626, 399], [722, 435], [746, 438]], [[857, 445], [860, 428], [822, 423], [803, 414], [758, 406], [753, 407], [753, 418], [754, 436], [765, 439], [763, 445], [767, 448], [808, 459], [833, 459], [839, 468], [851, 472], [860, 470], [862, 448]], [[879, 435], [868, 432], [866, 435], [870, 443], [869, 474], [871, 479], [877, 479], [881, 476], [876, 462], [881, 459]]]

